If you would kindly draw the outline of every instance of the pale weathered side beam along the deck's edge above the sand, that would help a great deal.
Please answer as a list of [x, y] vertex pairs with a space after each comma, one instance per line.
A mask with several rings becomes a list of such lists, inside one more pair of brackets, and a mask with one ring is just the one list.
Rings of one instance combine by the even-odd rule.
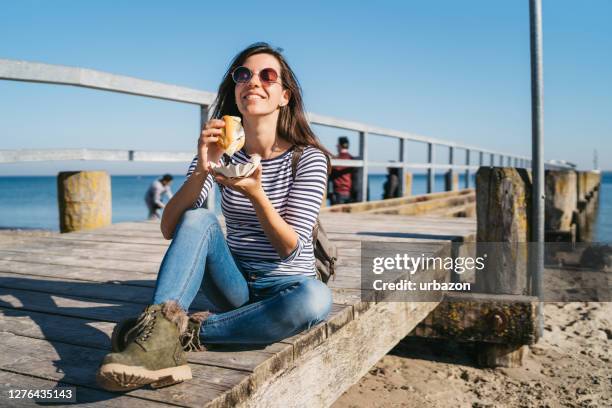
[[[295, 365], [244, 397], [241, 407], [330, 406], [397, 342], [436, 302], [379, 303], [303, 354]], [[357, 356], [357, 358], [356, 358]], [[321, 386], [322, 379], [333, 387]], [[333, 380], [332, 380], [333, 379]], [[313, 392], [317, 390], [317, 392]]]

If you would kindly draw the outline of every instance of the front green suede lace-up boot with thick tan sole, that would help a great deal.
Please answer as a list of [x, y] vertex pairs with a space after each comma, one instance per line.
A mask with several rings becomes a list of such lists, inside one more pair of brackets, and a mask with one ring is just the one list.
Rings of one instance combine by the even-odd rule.
[[148, 306], [126, 332], [128, 344], [108, 354], [98, 370], [98, 384], [109, 391], [128, 391], [150, 384], [164, 387], [191, 379], [180, 337], [187, 315], [174, 301]]

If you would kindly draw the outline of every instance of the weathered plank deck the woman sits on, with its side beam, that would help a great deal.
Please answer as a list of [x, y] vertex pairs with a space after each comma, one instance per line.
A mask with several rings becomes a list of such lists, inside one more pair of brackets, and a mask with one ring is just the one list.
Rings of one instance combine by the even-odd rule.
[[[159, 390], [114, 394], [95, 372], [114, 324], [149, 303], [169, 244], [154, 222], [128, 222], [49, 237], [0, 241], [0, 378], [15, 388], [77, 387], [95, 406], [325, 407], [408, 335], [438, 302], [364, 302], [360, 242], [415, 242], [439, 255], [473, 240], [473, 218], [322, 214], [340, 265], [328, 319], [266, 347], [189, 353], [194, 378]], [[203, 308], [201, 297], [192, 310]], [[25, 403], [25, 402], [24, 402]]]

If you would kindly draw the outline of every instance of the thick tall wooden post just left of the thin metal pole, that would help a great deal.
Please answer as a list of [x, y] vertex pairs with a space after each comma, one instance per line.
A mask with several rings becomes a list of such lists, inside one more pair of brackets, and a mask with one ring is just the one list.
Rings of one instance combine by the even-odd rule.
[[[515, 167], [480, 167], [476, 173], [476, 241], [485, 268], [476, 270], [481, 293], [527, 295], [531, 175]], [[494, 244], [491, 244], [494, 243]], [[503, 248], [502, 248], [503, 246]], [[484, 366], [520, 366], [523, 344], [483, 343]]]

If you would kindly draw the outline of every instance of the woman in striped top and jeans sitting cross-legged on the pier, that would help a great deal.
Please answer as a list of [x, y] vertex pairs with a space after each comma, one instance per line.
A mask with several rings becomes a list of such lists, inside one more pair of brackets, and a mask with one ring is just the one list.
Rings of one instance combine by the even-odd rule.
[[[240, 116], [244, 148], [262, 157], [247, 178], [215, 174], [224, 122], [208, 121], [187, 180], [167, 203], [162, 234], [173, 239], [153, 301], [138, 321], [118, 325], [113, 351], [98, 371], [106, 389], [153, 387], [191, 378], [184, 350], [205, 344], [269, 344], [323, 321], [329, 288], [316, 279], [312, 228], [323, 200], [329, 152], [306, 120], [301, 90], [281, 53], [257, 43], [239, 53], [219, 87], [213, 118]], [[292, 156], [302, 154], [292, 175]], [[227, 241], [216, 216], [201, 208], [216, 181]], [[215, 310], [186, 315], [198, 290]]]

